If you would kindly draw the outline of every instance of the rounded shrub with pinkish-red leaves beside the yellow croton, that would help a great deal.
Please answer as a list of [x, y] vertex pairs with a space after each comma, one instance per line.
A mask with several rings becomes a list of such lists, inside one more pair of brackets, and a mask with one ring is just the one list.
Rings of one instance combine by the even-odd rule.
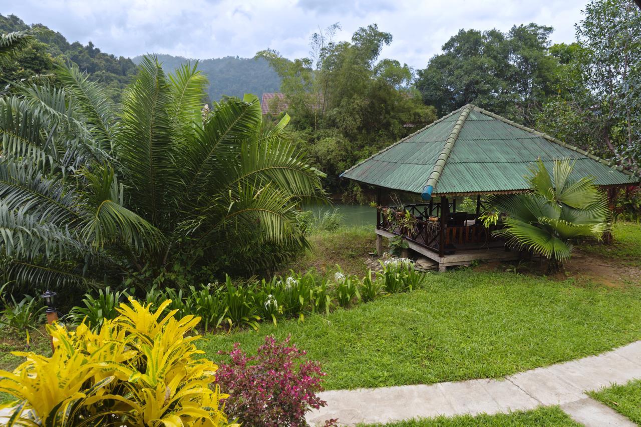
[[[221, 363], [217, 381], [229, 394], [224, 400], [229, 419], [238, 418], [244, 426], [306, 426], [305, 413], [325, 406], [317, 398], [322, 391], [320, 364], [308, 360], [299, 363], [305, 351], [274, 337], [265, 337], [256, 356], [247, 356], [238, 343], [229, 352], [231, 358]], [[326, 425], [333, 425], [335, 420]]]

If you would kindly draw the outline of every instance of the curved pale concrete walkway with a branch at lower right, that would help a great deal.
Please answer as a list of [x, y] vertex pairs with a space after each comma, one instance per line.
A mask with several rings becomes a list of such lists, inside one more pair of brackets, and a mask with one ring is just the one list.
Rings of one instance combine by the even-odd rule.
[[320, 398], [328, 405], [312, 412], [307, 419], [312, 425], [323, 424], [330, 418], [354, 425], [561, 405], [570, 417], [588, 427], [635, 426], [584, 393], [634, 378], [641, 378], [641, 341], [598, 356], [531, 369], [499, 380], [326, 391]]

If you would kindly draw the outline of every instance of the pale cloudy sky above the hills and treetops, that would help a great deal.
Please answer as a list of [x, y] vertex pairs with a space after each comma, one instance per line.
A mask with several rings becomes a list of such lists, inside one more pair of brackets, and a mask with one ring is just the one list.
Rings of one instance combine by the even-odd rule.
[[124, 56], [169, 53], [188, 58], [251, 57], [271, 47], [307, 56], [310, 35], [340, 22], [347, 40], [376, 22], [394, 36], [383, 56], [422, 68], [460, 28], [506, 31], [513, 24], [553, 26], [571, 42], [579, 0], [0, 0], [0, 13], [39, 22], [70, 41]]

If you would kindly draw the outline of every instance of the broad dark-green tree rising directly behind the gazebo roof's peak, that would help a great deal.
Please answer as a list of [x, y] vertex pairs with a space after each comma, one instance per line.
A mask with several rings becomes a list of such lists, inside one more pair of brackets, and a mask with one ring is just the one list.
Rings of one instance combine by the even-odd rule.
[[418, 71], [424, 103], [440, 115], [474, 103], [531, 124], [534, 112], [555, 93], [558, 60], [549, 53], [553, 28], [528, 24], [497, 29], [461, 29]]

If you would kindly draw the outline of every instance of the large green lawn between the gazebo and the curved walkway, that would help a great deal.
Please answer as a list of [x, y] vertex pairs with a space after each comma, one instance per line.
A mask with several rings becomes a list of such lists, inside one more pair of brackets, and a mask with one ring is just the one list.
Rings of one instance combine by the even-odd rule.
[[220, 360], [218, 350], [252, 352], [267, 334], [292, 335], [322, 363], [327, 389], [491, 378], [641, 339], [641, 289], [461, 269], [303, 323], [208, 335], [201, 347]]

